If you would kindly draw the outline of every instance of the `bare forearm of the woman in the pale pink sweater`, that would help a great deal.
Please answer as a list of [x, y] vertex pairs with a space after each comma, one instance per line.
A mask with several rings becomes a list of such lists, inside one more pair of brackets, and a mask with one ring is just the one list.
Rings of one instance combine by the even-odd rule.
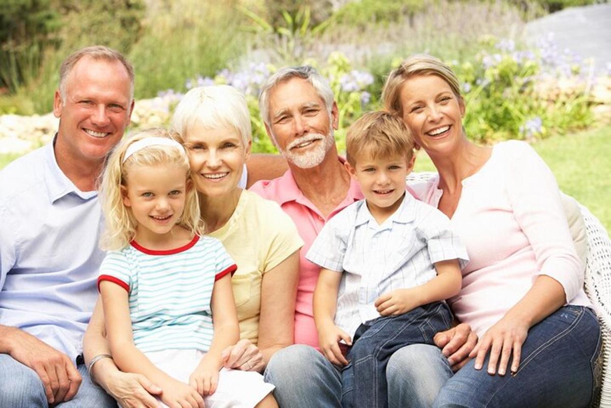
[[547, 275], [540, 275], [530, 290], [505, 316], [528, 322], [529, 327], [532, 327], [562, 307], [565, 302], [566, 295], [562, 285]]

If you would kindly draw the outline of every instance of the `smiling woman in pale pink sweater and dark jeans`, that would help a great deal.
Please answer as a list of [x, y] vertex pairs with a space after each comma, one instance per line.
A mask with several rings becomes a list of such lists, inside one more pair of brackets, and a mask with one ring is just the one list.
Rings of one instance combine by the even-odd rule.
[[[551, 170], [524, 142], [470, 142], [458, 79], [434, 57], [405, 60], [382, 99], [439, 172], [412, 188], [450, 217], [470, 258], [450, 304], [477, 344], [461, 344], [463, 324], [438, 333], [443, 351], [404, 349], [414, 356], [405, 368], [414, 406], [431, 399], [436, 407], [587, 406], [597, 387], [600, 329]], [[429, 367], [425, 387], [422, 367]]]

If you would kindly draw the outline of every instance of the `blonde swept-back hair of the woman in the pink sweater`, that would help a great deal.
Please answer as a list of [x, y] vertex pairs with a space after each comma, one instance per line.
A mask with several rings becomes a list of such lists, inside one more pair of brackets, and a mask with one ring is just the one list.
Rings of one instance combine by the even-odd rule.
[[382, 89], [382, 101], [386, 111], [403, 117], [401, 88], [409, 78], [417, 75], [437, 75], [448, 83], [456, 98], [459, 100], [463, 98], [460, 94], [460, 82], [452, 68], [436, 57], [415, 54], [401, 62], [398, 68], [390, 71]]

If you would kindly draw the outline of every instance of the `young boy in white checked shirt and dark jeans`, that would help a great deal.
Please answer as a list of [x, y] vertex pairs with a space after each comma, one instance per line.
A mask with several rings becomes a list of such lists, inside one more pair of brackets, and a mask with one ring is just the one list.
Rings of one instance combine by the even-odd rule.
[[406, 194], [414, 140], [401, 118], [363, 115], [346, 153], [365, 200], [329, 220], [305, 257], [321, 266], [314, 319], [321, 351], [343, 367], [342, 406], [382, 408], [390, 356], [448, 329], [444, 299], [458, 294], [468, 257], [448, 218]]

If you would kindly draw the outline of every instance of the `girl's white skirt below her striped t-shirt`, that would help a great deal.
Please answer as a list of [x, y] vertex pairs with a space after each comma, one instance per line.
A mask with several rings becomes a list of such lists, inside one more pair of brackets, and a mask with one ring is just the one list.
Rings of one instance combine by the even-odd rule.
[[[199, 350], [170, 349], [144, 354], [159, 370], [189, 384], [189, 376], [206, 353]], [[253, 408], [274, 388], [274, 385], [263, 381], [263, 376], [255, 371], [221, 368], [216, 391], [213, 395], [204, 396], [203, 401], [206, 408]], [[161, 399], [158, 398], [158, 401], [162, 407], [167, 407], [161, 403]]]

